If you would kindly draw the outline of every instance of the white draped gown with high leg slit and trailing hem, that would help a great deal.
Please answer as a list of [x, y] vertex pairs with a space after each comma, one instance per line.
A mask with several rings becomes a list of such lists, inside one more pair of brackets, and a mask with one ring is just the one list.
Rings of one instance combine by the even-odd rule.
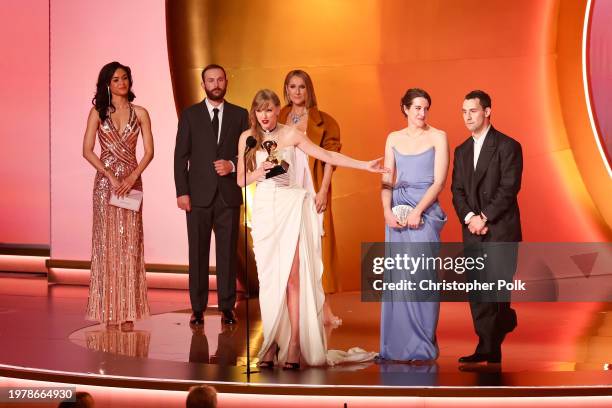
[[[311, 366], [371, 360], [373, 353], [353, 350], [327, 354], [323, 327], [325, 295], [321, 278], [321, 220], [314, 204], [314, 188], [304, 152], [293, 146], [279, 149], [289, 163], [287, 173], [261, 180], [253, 198], [252, 237], [259, 304], [263, 324], [263, 344], [259, 358], [277, 343], [278, 361], [287, 359], [291, 326], [287, 308], [287, 280], [299, 246], [299, 329], [302, 359]], [[257, 165], [267, 158], [257, 151]]]

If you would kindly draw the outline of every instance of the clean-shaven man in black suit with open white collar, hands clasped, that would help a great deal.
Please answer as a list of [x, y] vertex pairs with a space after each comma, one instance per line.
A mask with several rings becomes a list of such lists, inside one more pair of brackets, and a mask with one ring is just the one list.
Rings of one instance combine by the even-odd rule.
[[[455, 149], [453, 205], [463, 226], [466, 255], [486, 258], [484, 270], [468, 278], [509, 281], [522, 240], [517, 201], [523, 171], [521, 145], [491, 126], [491, 98], [483, 91], [465, 96], [463, 120], [472, 135]], [[509, 295], [498, 288], [470, 297], [478, 346], [460, 363], [501, 363], [501, 344], [517, 325]]]

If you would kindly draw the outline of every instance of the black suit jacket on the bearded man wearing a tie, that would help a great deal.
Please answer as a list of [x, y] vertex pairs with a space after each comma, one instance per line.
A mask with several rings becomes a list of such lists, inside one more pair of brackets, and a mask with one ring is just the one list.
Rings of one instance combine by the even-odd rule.
[[179, 119], [174, 149], [176, 196], [189, 195], [192, 206], [208, 207], [219, 190], [228, 206], [240, 206], [242, 193], [236, 184], [236, 173], [221, 177], [213, 162], [224, 159], [236, 165], [238, 139], [248, 128], [246, 109], [225, 101], [217, 144], [206, 103], [202, 101], [185, 109]]

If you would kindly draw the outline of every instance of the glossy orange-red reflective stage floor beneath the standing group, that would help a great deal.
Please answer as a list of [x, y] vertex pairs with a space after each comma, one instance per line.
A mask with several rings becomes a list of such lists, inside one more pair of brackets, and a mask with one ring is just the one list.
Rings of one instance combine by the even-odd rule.
[[[214, 303], [214, 297], [212, 298]], [[515, 304], [519, 325], [502, 365], [460, 367], [476, 344], [465, 303], [443, 303], [436, 364], [355, 364], [257, 372], [261, 344], [257, 300], [250, 302], [253, 373], [246, 374], [246, 303], [239, 323], [221, 324], [212, 309], [192, 331], [186, 291], [150, 289], [152, 316], [132, 331], [84, 319], [87, 288], [47, 285], [31, 274], [0, 275], [0, 376], [150, 390], [187, 390], [208, 382], [221, 392], [384, 396], [612, 395], [612, 305]], [[330, 349], [379, 348], [380, 305], [359, 293], [331, 296], [343, 324], [329, 329]]]

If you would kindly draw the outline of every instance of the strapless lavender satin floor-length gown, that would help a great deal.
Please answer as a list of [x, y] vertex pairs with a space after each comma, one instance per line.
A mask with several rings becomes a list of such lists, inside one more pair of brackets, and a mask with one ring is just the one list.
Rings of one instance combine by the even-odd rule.
[[[434, 181], [435, 150], [430, 148], [419, 154], [401, 154], [395, 148], [397, 179], [393, 188], [392, 206], [406, 204], [414, 207]], [[423, 213], [424, 224], [420, 228], [386, 227], [386, 242], [425, 243], [406, 245], [402, 252], [412, 256], [435, 256], [440, 231], [446, 223], [446, 214], [436, 201]], [[434, 245], [431, 245], [434, 244]], [[399, 251], [393, 248], [391, 251]], [[389, 256], [389, 254], [387, 254]], [[394, 256], [392, 254], [391, 256]], [[431, 276], [427, 276], [427, 274]], [[435, 280], [435, 271], [417, 271], [411, 275], [405, 270], [385, 271], [385, 280], [399, 282], [402, 279]], [[438, 357], [436, 327], [440, 304], [437, 301], [407, 301], [414, 294], [385, 293], [381, 307], [380, 357], [387, 360], [435, 360]], [[414, 298], [412, 298], [414, 299]]]

